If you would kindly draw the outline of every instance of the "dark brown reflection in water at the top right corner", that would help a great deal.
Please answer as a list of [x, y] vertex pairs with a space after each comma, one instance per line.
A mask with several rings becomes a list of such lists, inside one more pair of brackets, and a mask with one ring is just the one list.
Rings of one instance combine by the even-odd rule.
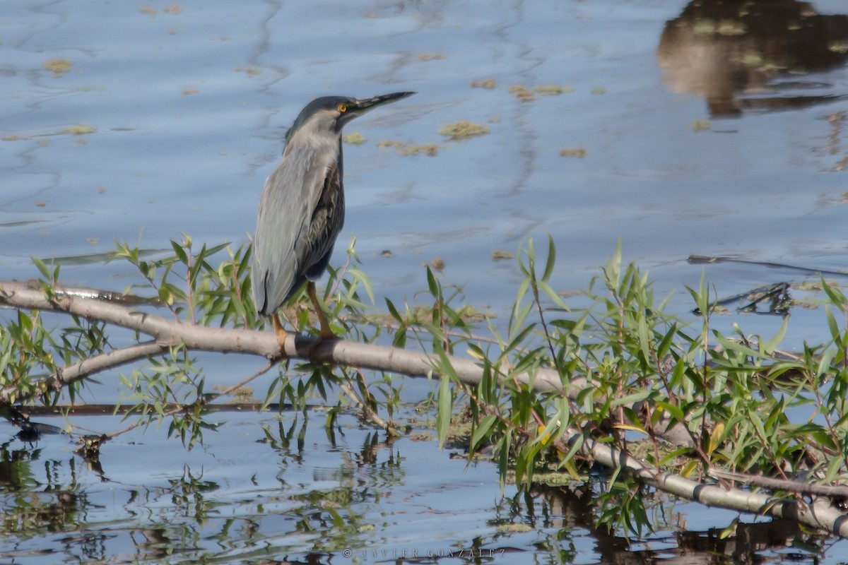
[[845, 94], [801, 77], [845, 64], [848, 16], [796, 0], [695, 0], [667, 22], [657, 58], [672, 91], [705, 96], [713, 116], [830, 102]]

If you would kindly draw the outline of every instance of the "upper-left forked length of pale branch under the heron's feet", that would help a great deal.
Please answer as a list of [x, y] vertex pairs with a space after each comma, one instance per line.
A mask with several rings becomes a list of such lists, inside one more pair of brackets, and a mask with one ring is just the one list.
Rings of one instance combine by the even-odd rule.
[[[281, 358], [276, 335], [271, 332], [183, 324], [155, 313], [137, 310], [134, 308], [137, 302], [125, 299], [118, 302], [104, 301], [101, 299], [103, 292], [92, 289], [81, 289], [81, 292], [77, 292], [67, 286], [58, 288], [61, 293], [50, 300], [40, 285], [14, 280], [0, 281], [0, 307], [74, 314], [134, 330], [153, 339], [61, 368], [57, 374], [47, 379], [45, 384], [50, 388], [68, 385], [111, 368], [167, 352], [170, 346], [181, 343], [197, 351], [243, 353], [270, 360]], [[424, 352], [355, 341], [332, 340], [315, 346], [315, 339], [304, 335], [289, 335], [284, 354], [294, 359], [335, 363], [410, 377], [438, 377], [435, 368], [440, 362], [438, 356]], [[448, 361], [457, 378], [466, 385], [477, 385], [483, 379], [483, 368], [473, 359], [449, 356]], [[580, 391], [591, 386], [591, 382], [585, 377], [572, 376], [570, 379], [563, 379], [555, 370], [545, 368], [538, 368], [533, 374], [510, 374], [509, 378], [522, 385], [532, 386], [535, 391], [558, 391], [572, 399], [575, 399]], [[9, 402], [14, 394], [12, 387], [0, 389], [0, 402]], [[16, 402], [26, 400], [30, 399], [15, 397]], [[692, 436], [681, 424], [669, 425], [668, 420], [663, 420], [654, 425], [653, 431], [675, 445], [692, 446]]]

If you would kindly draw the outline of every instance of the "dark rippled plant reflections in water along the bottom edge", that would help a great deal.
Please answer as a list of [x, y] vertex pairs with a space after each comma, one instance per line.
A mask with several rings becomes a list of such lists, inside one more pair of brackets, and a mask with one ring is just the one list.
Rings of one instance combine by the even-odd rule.
[[[0, 560], [332, 563], [349, 562], [343, 557], [347, 548], [355, 548], [354, 555], [371, 556], [371, 547], [384, 547], [388, 548], [386, 562], [437, 562], [438, 558], [421, 561], [402, 552], [418, 548], [418, 538], [409, 541], [407, 537], [408, 547], [384, 545], [389, 538], [381, 534], [382, 528], [400, 528], [409, 536], [409, 526], [403, 523], [428, 520], [420, 541], [426, 551], [432, 543], [428, 538], [441, 535], [434, 523], [449, 523], [454, 513], [466, 512], [469, 506], [442, 510], [436, 522], [428, 518], [438, 512], [429, 507], [438, 492], [428, 490], [432, 485], [422, 485], [420, 480], [407, 485], [408, 469], [402, 463], [412, 457], [416, 466], [427, 464], [422, 453], [416, 452], [416, 442], [395, 444], [367, 430], [350, 428], [345, 434], [349, 439], [356, 435], [356, 447], [331, 440], [329, 449], [321, 445], [321, 453], [336, 457], [321, 457], [321, 464], [315, 464], [316, 452], [304, 449], [304, 438], [308, 438], [306, 445], [316, 446], [319, 435], [330, 440], [332, 431], [312, 426], [307, 432], [305, 419], [297, 417], [262, 427], [263, 436], [251, 442], [259, 449], [252, 453], [258, 456], [258, 474], [262, 475], [262, 469], [276, 469], [276, 481], [260, 479], [233, 488], [226, 480], [209, 478], [209, 469], [203, 465], [186, 464], [182, 474], [158, 486], [109, 482], [106, 498], [105, 484], [78, 483], [81, 474], [75, 457], [51, 459], [41, 449], [17, 441], [0, 446], [0, 498], [5, 514]], [[461, 546], [434, 546], [443, 552], [461, 550], [466, 557], [460, 561], [465, 562], [511, 562], [531, 556], [544, 556], [544, 562], [576, 562], [592, 554], [594, 562], [600, 563], [767, 563], [785, 562], [786, 548], [791, 546], [799, 548], [793, 560], [818, 557], [815, 547], [806, 545], [812, 538], [793, 523], [739, 524], [722, 539], [721, 529], [687, 529], [685, 512], [650, 491], [645, 496], [657, 532], [644, 540], [628, 539], [596, 523], [603, 480], [574, 488], [538, 487], [506, 496], [494, 507], [470, 505], [471, 512], [483, 512], [494, 532], [473, 535]], [[410, 506], [395, 500], [383, 507], [383, 493], [409, 499]], [[462, 496], [460, 490], [457, 493]], [[117, 507], [103, 507], [107, 500]], [[393, 517], [396, 513], [398, 518]]]

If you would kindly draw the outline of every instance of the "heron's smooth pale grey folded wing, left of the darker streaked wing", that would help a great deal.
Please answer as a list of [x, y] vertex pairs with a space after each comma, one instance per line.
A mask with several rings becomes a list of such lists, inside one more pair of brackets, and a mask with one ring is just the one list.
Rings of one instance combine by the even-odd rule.
[[[253, 286], [256, 310], [276, 312], [302, 282], [309, 254], [298, 241], [308, 233], [334, 155], [310, 147], [286, 151], [265, 181], [254, 234]], [[304, 228], [304, 226], [306, 226]]]

